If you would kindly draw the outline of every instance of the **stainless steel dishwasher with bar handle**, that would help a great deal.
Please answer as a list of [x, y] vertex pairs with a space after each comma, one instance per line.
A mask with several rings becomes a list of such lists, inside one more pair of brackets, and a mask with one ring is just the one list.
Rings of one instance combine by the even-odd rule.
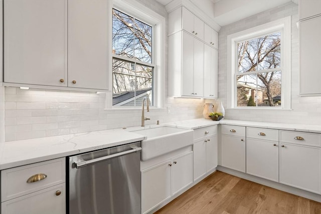
[[140, 142], [69, 157], [70, 214], [140, 213]]

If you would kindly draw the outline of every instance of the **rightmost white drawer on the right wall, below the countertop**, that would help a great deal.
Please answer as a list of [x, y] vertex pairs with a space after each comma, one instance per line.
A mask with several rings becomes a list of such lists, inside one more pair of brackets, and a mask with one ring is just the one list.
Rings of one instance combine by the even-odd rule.
[[280, 130], [280, 142], [321, 146], [321, 134]]

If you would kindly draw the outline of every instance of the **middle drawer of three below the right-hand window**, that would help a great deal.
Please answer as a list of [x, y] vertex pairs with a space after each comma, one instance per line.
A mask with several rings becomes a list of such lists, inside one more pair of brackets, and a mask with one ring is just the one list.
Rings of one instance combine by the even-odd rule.
[[277, 129], [247, 127], [246, 137], [279, 141], [279, 131]]

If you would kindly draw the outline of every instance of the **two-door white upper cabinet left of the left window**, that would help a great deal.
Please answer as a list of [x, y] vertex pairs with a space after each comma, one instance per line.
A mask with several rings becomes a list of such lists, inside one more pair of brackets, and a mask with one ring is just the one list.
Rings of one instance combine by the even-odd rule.
[[108, 90], [108, 0], [4, 2], [4, 82]]

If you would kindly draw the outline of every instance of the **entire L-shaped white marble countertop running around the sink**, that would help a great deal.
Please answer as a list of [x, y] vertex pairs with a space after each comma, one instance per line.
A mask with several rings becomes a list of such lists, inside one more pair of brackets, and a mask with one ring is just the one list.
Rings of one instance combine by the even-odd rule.
[[0, 143], [0, 170], [146, 139], [143, 135], [129, 132], [131, 130], [146, 129], [162, 125], [183, 129], [198, 129], [217, 124], [321, 133], [321, 125], [300, 125], [227, 119], [213, 121], [199, 118], [168, 122], [161, 125], [92, 131]]

